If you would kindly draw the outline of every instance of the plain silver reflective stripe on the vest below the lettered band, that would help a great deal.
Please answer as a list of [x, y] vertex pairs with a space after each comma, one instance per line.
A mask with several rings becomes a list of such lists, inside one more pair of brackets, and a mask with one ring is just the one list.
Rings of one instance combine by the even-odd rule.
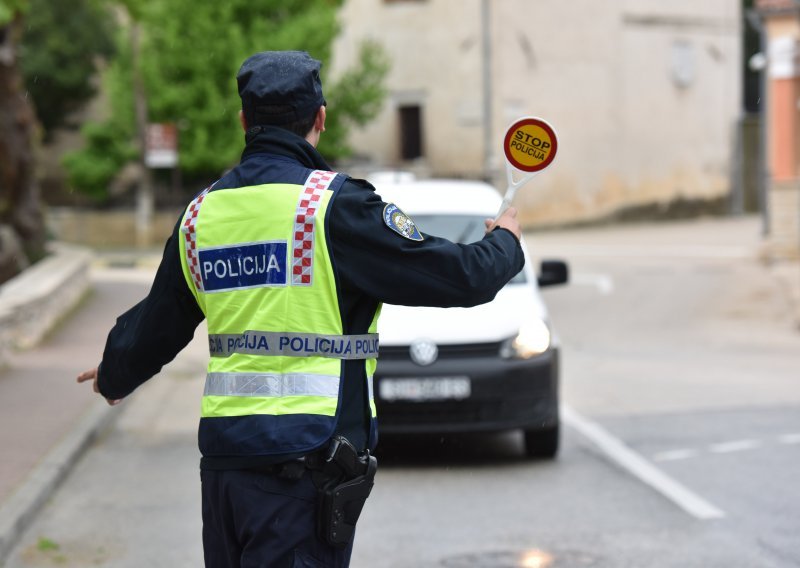
[[339, 396], [336, 375], [208, 373], [204, 396]]

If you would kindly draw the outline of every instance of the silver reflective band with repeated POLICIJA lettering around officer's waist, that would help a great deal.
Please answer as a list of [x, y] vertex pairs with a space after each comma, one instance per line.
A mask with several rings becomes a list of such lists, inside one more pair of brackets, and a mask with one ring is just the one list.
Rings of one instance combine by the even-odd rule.
[[215, 333], [208, 336], [212, 357], [240, 355], [282, 355], [284, 357], [329, 357], [372, 359], [378, 356], [378, 334], [319, 335], [252, 331], [241, 334]]

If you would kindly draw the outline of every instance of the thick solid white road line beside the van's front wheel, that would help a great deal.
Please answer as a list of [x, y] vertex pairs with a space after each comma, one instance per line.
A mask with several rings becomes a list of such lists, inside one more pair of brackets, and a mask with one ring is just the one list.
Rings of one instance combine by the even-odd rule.
[[593, 442], [612, 461], [690, 515], [703, 520], [725, 517], [721, 509], [669, 477], [599, 424], [584, 418], [566, 405], [561, 406], [561, 418], [568, 426]]

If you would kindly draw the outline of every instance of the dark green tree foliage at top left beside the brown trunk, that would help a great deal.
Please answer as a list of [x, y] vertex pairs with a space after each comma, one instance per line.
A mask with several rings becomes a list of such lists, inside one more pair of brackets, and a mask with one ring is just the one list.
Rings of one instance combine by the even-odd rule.
[[96, 94], [99, 57], [113, 53], [114, 20], [99, 0], [29, 0], [20, 46], [25, 88], [48, 138]]

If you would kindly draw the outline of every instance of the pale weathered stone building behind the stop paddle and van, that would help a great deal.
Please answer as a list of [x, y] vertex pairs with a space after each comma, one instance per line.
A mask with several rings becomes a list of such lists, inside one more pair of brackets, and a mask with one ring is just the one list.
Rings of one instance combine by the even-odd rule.
[[380, 116], [351, 138], [373, 167], [503, 190], [503, 134], [532, 115], [555, 127], [559, 152], [518, 194], [529, 225], [727, 203], [737, 1], [347, 0], [340, 20], [334, 75], [364, 39], [392, 61]]

